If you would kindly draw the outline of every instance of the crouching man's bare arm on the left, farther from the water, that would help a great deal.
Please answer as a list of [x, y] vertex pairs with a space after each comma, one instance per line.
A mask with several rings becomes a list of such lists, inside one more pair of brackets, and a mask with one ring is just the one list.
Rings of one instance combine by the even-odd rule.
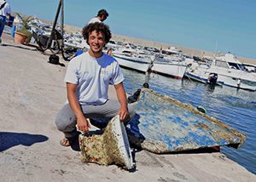
[[67, 82], [67, 100], [74, 115], [77, 117], [78, 128], [80, 131], [87, 133], [89, 131], [89, 122], [84, 117], [84, 113], [79, 105], [79, 100], [76, 97], [77, 85]]

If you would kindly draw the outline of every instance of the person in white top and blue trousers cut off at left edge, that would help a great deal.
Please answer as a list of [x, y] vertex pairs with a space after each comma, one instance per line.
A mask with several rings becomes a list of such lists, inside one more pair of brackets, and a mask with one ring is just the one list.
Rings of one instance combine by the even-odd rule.
[[5, 0], [0, 0], [0, 43], [2, 43], [3, 28], [6, 20], [6, 16], [11, 14], [9, 3]]

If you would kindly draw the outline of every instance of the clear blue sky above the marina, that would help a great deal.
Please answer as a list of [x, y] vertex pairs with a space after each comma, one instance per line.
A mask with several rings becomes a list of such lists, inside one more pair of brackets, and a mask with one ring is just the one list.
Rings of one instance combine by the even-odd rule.
[[[7, 0], [13, 11], [54, 20], [58, 0]], [[99, 9], [115, 34], [256, 60], [255, 0], [64, 0], [65, 23], [83, 27]]]

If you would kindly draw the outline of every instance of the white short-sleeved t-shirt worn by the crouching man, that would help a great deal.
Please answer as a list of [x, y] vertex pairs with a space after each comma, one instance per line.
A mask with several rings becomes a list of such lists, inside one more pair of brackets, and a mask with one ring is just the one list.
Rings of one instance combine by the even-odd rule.
[[117, 85], [124, 76], [117, 60], [108, 54], [94, 58], [88, 52], [68, 63], [64, 82], [77, 84], [80, 105], [102, 105], [108, 100], [109, 84]]

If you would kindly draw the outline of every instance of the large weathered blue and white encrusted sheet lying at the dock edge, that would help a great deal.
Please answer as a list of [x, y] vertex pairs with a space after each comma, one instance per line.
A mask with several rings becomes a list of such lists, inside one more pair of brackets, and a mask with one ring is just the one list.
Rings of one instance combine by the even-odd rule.
[[[143, 88], [135, 104], [131, 132], [143, 135], [142, 148], [154, 153], [189, 151], [213, 146], [240, 147], [246, 139], [213, 117], [166, 95]], [[137, 120], [137, 121], [136, 121]]]

